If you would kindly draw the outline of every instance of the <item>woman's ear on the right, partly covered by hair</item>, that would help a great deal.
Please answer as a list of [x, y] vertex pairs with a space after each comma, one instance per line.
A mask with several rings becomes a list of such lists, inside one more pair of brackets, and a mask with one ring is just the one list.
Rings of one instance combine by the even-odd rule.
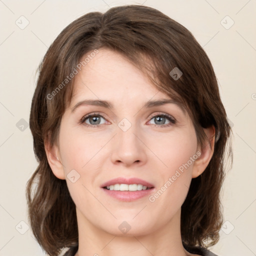
[[203, 130], [207, 136], [207, 139], [204, 141], [202, 146], [197, 148], [197, 151], [200, 152], [200, 155], [194, 161], [192, 178], [196, 178], [205, 170], [214, 151], [215, 127], [212, 125], [209, 128], [204, 128]]

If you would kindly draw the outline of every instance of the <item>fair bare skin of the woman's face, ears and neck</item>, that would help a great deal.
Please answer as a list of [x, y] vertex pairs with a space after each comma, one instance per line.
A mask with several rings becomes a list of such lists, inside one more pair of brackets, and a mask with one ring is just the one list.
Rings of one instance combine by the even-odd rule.
[[[76, 205], [79, 247], [75, 255], [196, 255], [182, 246], [180, 209], [191, 179], [204, 171], [212, 156], [213, 139], [202, 148], [197, 145], [190, 117], [175, 103], [142, 107], [148, 100], [169, 97], [119, 53], [100, 48], [74, 79], [58, 146], [49, 148], [46, 140], [45, 149], [54, 175], [66, 179]], [[80, 105], [71, 110], [84, 99], [108, 100], [113, 109]], [[99, 117], [98, 127], [89, 118], [79, 123], [93, 112], [104, 116]], [[166, 118], [162, 124], [154, 118], [164, 113], [176, 123]], [[131, 124], [126, 131], [118, 126], [123, 118]], [[210, 138], [214, 128], [205, 132]], [[201, 155], [153, 202], [148, 196], [119, 201], [100, 188], [115, 177], [138, 177], [154, 185], [153, 195], [197, 151]], [[72, 169], [80, 175], [74, 183], [67, 178]], [[127, 233], [118, 228], [123, 221], [131, 227]]]

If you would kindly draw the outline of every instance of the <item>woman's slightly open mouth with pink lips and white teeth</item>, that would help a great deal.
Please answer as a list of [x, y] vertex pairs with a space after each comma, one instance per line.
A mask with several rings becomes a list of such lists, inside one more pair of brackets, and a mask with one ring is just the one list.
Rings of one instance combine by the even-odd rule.
[[120, 201], [133, 201], [149, 195], [154, 186], [139, 178], [115, 178], [101, 185], [105, 194]]

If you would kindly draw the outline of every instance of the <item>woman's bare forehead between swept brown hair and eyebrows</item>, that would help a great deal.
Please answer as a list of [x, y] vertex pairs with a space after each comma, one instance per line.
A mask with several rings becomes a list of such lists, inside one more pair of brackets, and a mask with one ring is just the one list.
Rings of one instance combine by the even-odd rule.
[[74, 78], [71, 102], [84, 96], [116, 100], [169, 98], [127, 58], [105, 48], [100, 48]]

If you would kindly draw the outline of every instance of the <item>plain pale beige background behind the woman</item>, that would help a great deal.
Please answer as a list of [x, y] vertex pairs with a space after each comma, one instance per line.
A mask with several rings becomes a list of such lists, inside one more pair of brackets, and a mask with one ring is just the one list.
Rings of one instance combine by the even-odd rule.
[[0, 0], [0, 255], [43, 255], [26, 224], [24, 193], [37, 166], [26, 123], [40, 60], [75, 18], [130, 3], [155, 7], [180, 22], [211, 59], [233, 124], [234, 146], [233, 167], [222, 189], [226, 222], [212, 251], [256, 255], [255, 0]]

